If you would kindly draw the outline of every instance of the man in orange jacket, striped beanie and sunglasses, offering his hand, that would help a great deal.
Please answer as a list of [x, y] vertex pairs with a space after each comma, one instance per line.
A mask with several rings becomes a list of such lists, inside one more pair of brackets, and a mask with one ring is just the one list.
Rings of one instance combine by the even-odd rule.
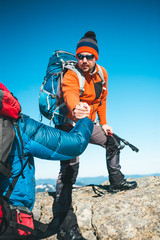
[[[83, 118], [90, 110], [89, 118], [95, 121], [98, 114], [99, 124], [94, 125], [90, 143], [100, 145], [107, 150], [106, 156], [111, 156], [116, 146], [113, 138], [108, 135], [112, 133], [112, 127], [106, 120], [106, 98], [108, 75], [103, 67], [96, 64], [99, 50], [94, 32], [87, 32], [77, 45], [76, 58], [77, 67], [85, 76], [84, 92], [80, 95], [79, 79], [75, 72], [68, 70], [62, 82], [62, 93], [64, 102], [69, 110], [68, 117], [76, 120]], [[101, 69], [104, 81], [99, 74]], [[64, 131], [70, 131], [71, 125], [60, 126]], [[61, 162], [61, 169], [57, 180], [57, 193], [55, 204], [55, 217], [59, 219], [60, 231], [57, 235], [61, 240], [79, 239], [84, 240], [78, 230], [76, 216], [72, 208], [72, 185], [76, 181], [79, 168], [79, 158]], [[107, 158], [109, 173], [109, 191], [116, 193], [121, 190], [134, 189], [136, 182], [127, 182], [120, 171], [119, 151], [111, 159]]]

